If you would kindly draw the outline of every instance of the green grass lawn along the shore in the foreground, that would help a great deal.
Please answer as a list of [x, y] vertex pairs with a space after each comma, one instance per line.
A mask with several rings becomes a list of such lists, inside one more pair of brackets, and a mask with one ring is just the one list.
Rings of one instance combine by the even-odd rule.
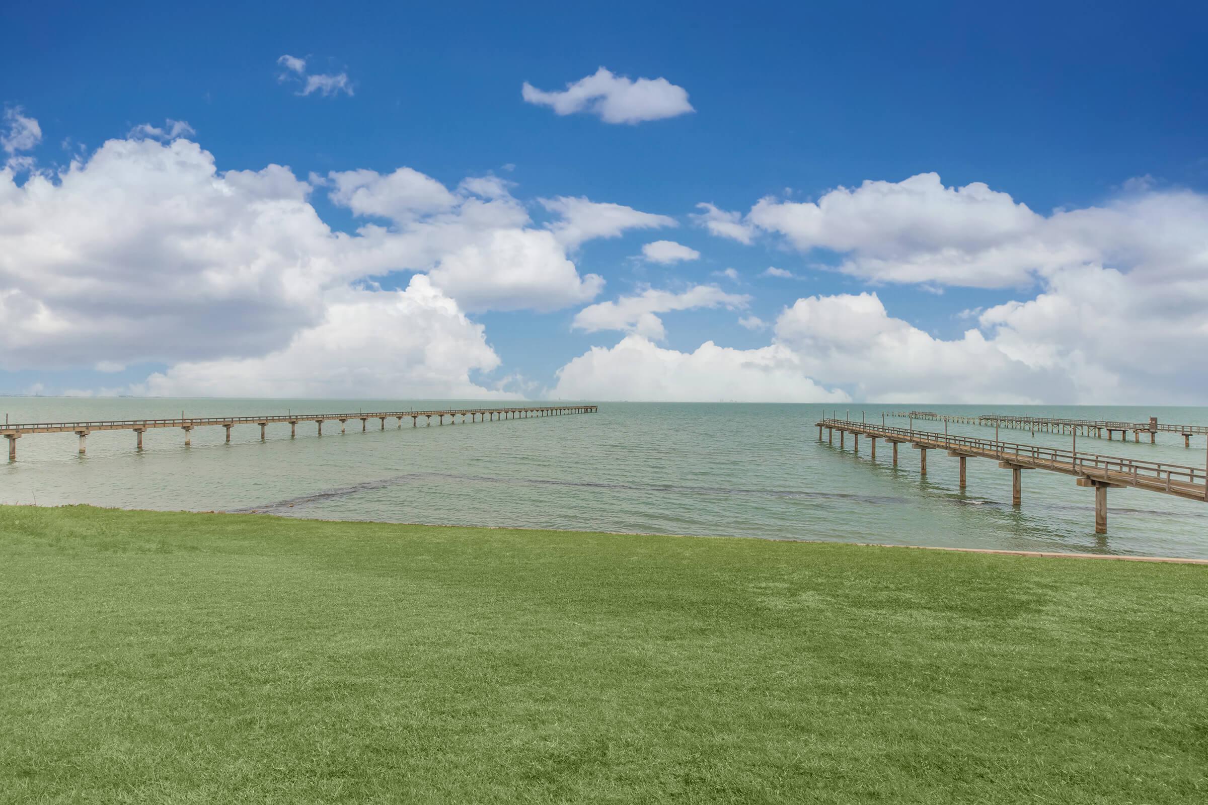
[[0, 801], [662, 800], [1208, 801], [1208, 566], [0, 507]]

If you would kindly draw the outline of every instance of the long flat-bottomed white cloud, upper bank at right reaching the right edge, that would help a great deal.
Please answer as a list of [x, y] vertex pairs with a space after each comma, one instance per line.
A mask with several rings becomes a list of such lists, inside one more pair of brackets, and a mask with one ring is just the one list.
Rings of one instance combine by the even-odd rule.
[[843, 272], [892, 282], [1024, 286], [1087, 264], [1154, 279], [1208, 272], [1208, 199], [1129, 187], [1103, 206], [1044, 216], [981, 182], [945, 187], [919, 174], [840, 187], [818, 202], [766, 198], [744, 223], [801, 251], [840, 252]]

